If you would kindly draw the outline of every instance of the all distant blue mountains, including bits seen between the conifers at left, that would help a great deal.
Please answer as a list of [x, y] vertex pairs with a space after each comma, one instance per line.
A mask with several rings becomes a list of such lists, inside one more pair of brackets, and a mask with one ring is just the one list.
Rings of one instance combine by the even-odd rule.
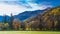
[[[44, 11], [45, 10], [25, 11], [25, 12], [19, 13], [18, 15], [14, 15], [13, 17], [18, 18], [21, 21], [23, 21], [23, 20], [25, 20], [25, 19], [27, 19], [27, 18], [29, 18], [31, 16], [36, 16], [39, 13], [43, 13]], [[0, 16], [0, 22], [3, 22], [3, 17], [4, 16]], [[10, 16], [6, 15], [6, 19], [7, 19], [7, 21], [9, 21]]]

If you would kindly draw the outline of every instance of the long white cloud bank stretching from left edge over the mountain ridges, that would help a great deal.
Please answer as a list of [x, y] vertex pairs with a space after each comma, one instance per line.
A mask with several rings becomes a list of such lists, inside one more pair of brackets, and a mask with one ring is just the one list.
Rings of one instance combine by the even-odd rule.
[[32, 8], [27, 8], [27, 6], [24, 5], [20, 5], [20, 4], [10, 4], [10, 3], [5, 3], [5, 2], [1, 2], [0, 3], [0, 15], [9, 15], [11, 13], [13, 13], [13, 15], [17, 15], [19, 13], [22, 13], [24, 11], [32, 11], [32, 10], [43, 10], [46, 9], [47, 7], [51, 7], [51, 5], [45, 6], [45, 5], [38, 5], [36, 3], [30, 3], [27, 2], [28, 6], [32, 7]]

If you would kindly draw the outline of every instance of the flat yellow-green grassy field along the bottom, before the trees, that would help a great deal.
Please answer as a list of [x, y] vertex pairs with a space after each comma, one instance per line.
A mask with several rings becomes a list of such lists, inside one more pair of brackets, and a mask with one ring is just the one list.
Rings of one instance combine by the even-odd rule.
[[0, 34], [60, 34], [52, 31], [0, 31]]

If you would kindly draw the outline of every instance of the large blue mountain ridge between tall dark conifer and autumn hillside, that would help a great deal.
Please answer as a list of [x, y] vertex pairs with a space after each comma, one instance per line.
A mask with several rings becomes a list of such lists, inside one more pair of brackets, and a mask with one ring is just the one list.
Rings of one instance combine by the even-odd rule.
[[43, 13], [45, 10], [35, 10], [35, 11], [25, 11], [23, 13], [20, 13], [18, 15], [15, 15], [14, 18], [19, 18], [21, 21], [30, 18], [32, 16], [36, 16], [39, 13]]

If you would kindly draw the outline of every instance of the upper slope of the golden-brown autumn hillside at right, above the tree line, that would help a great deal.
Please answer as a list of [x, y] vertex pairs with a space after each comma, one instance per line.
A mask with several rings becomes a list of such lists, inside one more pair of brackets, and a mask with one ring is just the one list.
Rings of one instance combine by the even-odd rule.
[[60, 6], [46, 10], [43, 13], [39, 13], [37, 16], [32, 18], [40, 17], [40, 18], [48, 19], [48, 18], [51, 18], [52, 16], [58, 17], [57, 15], [60, 15]]

